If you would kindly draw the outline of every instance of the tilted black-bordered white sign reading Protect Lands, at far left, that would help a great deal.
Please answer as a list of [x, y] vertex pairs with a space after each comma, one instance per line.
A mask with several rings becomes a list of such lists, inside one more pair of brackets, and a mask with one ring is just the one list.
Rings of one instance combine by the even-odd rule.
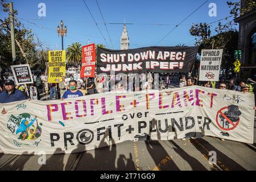
[[11, 65], [11, 71], [16, 85], [32, 84], [34, 82], [29, 64]]

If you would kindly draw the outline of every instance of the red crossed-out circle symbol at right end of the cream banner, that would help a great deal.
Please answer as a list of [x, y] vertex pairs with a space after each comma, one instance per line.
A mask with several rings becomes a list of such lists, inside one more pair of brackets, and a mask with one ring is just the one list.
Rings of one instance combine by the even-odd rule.
[[[216, 115], [216, 122], [218, 127], [220, 127], [221, 130], [225, 130], [225, 131], [230, 131], [235, 129], [239, 122], [240, 122], [240, 118], [239, 115], [236, 117], [237, 119], [234, 121], [232, 121], [232, 119], [230, 119], [229, 115], [228, 115], [228, 111], [226, 111], [228, 109], [228, 106], [226, 107], [222, 107], [220, 110], [217, 111], [217, 115]], [[231, 114], [234, 115], [234, 114]], [[231, 125], [231, 127], [229, 127], [229, 125]]]

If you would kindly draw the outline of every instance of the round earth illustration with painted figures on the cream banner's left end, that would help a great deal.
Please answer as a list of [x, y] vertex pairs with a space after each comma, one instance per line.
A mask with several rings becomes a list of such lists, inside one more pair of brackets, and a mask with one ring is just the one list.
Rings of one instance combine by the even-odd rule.
[[6, 133], [6, 137], [15, 136], [13, 143], [16, 147], [38, 146], [42, 135], [42, 123], [38, 123], [38, 118], [29, 113], [22, 113], [18, 116], [11, 114], [7, 121], [7, 129], [12, 134]]

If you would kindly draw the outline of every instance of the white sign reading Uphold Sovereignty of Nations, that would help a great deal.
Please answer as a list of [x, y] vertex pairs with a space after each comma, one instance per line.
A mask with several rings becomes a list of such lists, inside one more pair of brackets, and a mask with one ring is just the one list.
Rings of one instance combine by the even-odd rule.
[[202, 49], [200, 60], [200, 81], [218, 81], [223, 49]]

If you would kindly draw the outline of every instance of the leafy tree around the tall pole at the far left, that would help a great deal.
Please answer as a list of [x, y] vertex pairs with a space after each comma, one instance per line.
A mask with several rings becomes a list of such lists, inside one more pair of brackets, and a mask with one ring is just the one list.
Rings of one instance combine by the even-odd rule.
[[[1, 6], [5, 13], [9, 13], [9, 4], [1, 0]], [[31, 29], [27, 29], [24, 25], [18, 20], [17, 17], [18, 11], [14, 10], [14, 32], [15, 32], [15, 48], [16, 48], [16, 64], [30, 64], [31, 68], [38, 68], [38, 65], [41, 65], [40, 68], [45, 68], [42, 66], [44, 64], [38, 63], [40, 54], [36, 48], [37, 44], [34, 39], [34, 34], [32, 34]], [[10, 35], [10, 18], [9, 14], [7, 17], [0, 19], [0, 66], [3, 68], [10, 67], [12, 62], [11, 56], [11, 35]]]

